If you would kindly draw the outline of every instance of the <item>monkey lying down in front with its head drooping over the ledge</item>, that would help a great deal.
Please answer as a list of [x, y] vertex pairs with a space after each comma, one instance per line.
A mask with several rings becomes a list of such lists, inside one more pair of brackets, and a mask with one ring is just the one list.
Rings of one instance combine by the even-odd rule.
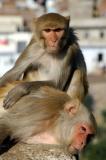
[[[92, 113], [78, 99], [72, 99], [50, 83], [34, 83], [34, 92], [0, 114], [0, 143], [10, 136], [29, 144], [63, 145], [77, 154], [96, 132]], [[1, 88], [0, 102], [12, 87], [14, 84]]]

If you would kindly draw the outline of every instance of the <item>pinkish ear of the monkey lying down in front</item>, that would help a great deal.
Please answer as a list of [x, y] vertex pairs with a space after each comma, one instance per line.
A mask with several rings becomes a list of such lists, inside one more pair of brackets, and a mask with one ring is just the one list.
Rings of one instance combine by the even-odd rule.
[[70, 102], [65, 104], [64, 110], [70, 115], [75, 115], [80, 106], [80, 101], [78, 99], [71, 100]]

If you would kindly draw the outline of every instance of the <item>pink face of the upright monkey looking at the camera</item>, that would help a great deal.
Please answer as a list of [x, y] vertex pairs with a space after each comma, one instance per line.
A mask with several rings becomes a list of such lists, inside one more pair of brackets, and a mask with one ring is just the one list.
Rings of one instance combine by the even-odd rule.
[[61, 28], [48, 28], [42, 31], [42, 36], [45, 40], [45, 46], [49, 51], [57, 51], [59, 43], [64, 35], [64, 29]]

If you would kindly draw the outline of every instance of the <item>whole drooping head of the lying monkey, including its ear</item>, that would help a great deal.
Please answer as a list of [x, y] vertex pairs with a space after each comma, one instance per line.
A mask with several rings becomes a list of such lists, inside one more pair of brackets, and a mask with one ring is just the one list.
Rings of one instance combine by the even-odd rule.
[[59, 128], [61, 141], [72, 154], [77, 154], [96, 134], [96, 121], [91, 111], [78, 99], [66, 103], [64, 110], [60, 119], [61, 129]]

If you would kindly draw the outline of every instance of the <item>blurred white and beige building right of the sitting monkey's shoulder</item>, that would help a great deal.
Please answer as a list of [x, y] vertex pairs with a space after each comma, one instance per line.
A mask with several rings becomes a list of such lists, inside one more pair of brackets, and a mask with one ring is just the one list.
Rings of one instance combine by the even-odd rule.
[[106, 19], [90, 18], [72, 20], [83, 51], [88, 73], [106, 70]]

